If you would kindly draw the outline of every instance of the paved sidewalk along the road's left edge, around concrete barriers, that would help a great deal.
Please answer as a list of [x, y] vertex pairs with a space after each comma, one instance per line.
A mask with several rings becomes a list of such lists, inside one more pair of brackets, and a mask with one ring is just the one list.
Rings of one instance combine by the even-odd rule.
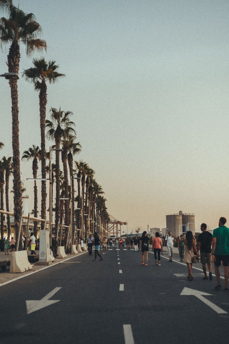
[[[77, 255], [67, 254], [67, 258], [55, 258], [55, 260], [53, 262], [50, 262], [49, 267], [52, 266], [52, 265], [55, 265], [57, 263], [60, 263], [61, 261], [68, 260], [70, 258], [79, 256], [81, 254], [85, 254], [86, 252], [88, 252], [88, 250], [83, 251], [82, 253], [78, 253]], [[38, 250], [36, 250], [36, 254], [39, 254]], [[29, 253], [29, 255], [30, 255], [30, 253]], [[5, 252], [0, 251], [0, 261], [4, 261], [4, 260], [7, 260], [7, 261], [10, 262], [10, 260], [11, 260], [11, 252], [9, 252], [9, 255], [5, 255]], [[44, 265], [36, 265], [36, 263], [31, 264], [31, 265], [32, 265], [32, 269], [31, 270], [28, 270], [28, 271], [25, 271], [25, 272], [22, 272], [22, 273], [10, 273], [10, 265], [7, 265], [6, 270], [2, 270], [1, 267], [0, 267], [0, 286], [1, 286], [2, 283], [8, 282], [10, 280], [13, 280], [13, 279], [21, 277], [21, 276], [28, 275], [31, 272], [38, 271], [38, 270], [46, 268], [46, 266], [44, 266]]]

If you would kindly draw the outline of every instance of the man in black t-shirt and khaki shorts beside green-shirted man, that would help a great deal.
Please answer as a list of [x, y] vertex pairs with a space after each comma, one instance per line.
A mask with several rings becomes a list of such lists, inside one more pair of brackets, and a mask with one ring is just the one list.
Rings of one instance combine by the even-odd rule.
[[206, 223], [201, 224], [201, 231], [202, 233], [199, 234], [197, 239], [197, 251], [201, 250], [201, 263], [204, 271], [204, 278], [207, 278], [207, 270], [206, 270], [206, 263], [208, 265], [209, 270], [209, 280], [212, 280], [212, 273], [211, 273], [211, 243], [212, 243], [212, 234], [207, 231]]

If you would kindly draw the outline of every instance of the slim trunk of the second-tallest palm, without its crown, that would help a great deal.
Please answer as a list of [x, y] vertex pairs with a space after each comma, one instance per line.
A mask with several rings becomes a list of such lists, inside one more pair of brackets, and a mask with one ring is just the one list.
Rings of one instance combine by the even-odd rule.
[[[41, 128], [41, 174], [42, 178], [46, 178], [46, 150], [45, 150], [45, 120], [46, 120], [46, 104], [47, 104], [47, 86], [42, 81], [42, 87], [39, 93], [40, 107], [40, 128]], [[41, 184], [41, 218], [46, 216], [46, 181]], [[34, 209], [35, 210], [35, 209]], [[44, 229], [44, 223], [41, 223], [41, 229]]]

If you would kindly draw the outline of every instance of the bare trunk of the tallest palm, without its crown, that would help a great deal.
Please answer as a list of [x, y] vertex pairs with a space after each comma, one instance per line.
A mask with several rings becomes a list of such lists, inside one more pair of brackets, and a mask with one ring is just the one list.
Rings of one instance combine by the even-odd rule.
[[[20, 52], [19, 45], [12, 43], [8, 57], [9, 72], [19, 72]], [[9, 80], [12, 102], [12, 149], [13, 149], [13, 190], [14, 190], [14, 224], [15, 239], [18, 240], [19, 221], [22, 214], [22, 194], [20, 175], [20, 150], [19, 150], [19, 109], [18, 109], [18, 85], [17, 80]], [[20, 240], [19, 250], [22, 249]]]

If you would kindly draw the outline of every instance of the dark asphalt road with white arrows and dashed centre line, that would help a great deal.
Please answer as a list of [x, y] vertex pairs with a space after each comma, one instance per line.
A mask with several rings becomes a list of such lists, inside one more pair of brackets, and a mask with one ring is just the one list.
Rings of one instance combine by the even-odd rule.
[[229, 343], [229, 292], [215, 277], [194, 269], [188, 281], [185, 264], [140, 256], [113, 247], [1, 286], [0, 343]]

